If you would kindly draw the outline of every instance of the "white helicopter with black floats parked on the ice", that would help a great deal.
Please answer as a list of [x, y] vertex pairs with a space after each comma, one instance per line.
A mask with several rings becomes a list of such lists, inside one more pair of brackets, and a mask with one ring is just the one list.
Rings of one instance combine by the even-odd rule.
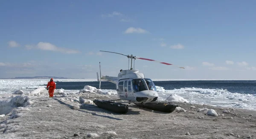
[[[109, 52], [109, 51], [101, 51], [101, 52]], [[111, 52], [111, 53], [123, 55], [123, 54], [117, 53], [117, 52]], [[134, 59], [134, 63], [135, 63], [135, 59], [142, 59], [142, 60], [154, 61], [154, 62], [158, 62], [161, 64], [166, 64], [166, 65], [173, 65], [173, 64], [155, 61], [155, 60], [148, 59], [148, 58], [140, 58], [140, 57], [136, 57], [133, 55], [124, 55], [124, 56], [126, 56], [128, 58], [128, 65], [130, 64], [130, 59], [131, 59], [131, 68], [129, 69], [129, 66], [128, 66], [128, 69], [126, 69], [126, 70], [121, 69], [117, 77], [102, 76], [100, 62], [99, 62], [100, 76], [97, 72], [97, 80], [99, 81], [99, 88], [101, 87], [101, 81], [110, 81], [110, 82], [116, 84], [117, 95], [120, 98], [117, 100], [125, 100], [129, 104], [134, 103], [136, 105], [140, 105], [141, 107], [144, 106], [144, 107], [148, 107], [148, 108], [151, 108], [154, 110], [162, 109], [159, 106], [157, 108], [157, 106], [154, 105], [154, 103], [152, 103], [152, 102], [156, 101], [158, 98], [158, 93], [157, 93], [157, 89], [154, 85], [154, 82], [150, 78], [145, 78], [144, 74], [139, 72], [138, 69], [133, 69], [132, 60]], [[184, 67], [179, 67], [179, 68], [184, 69]], [[108, 100], [108, 101], [95, 100], [94, 103], [98, 107], [102, 107], [102, 108], [112, 110], [112, 111], [114, 110], [117, 113], [119, 113], [119, 110], [117, 110], [116, 107], [110, 108], [111, 106], [113, 106], [113, 104], [118, 104], [115, 106], [119, 106], [119, 107], [125, 106], [120, 103], [116, 103], [116, 102], [112, 102], [112, 101], [113, 100]], [[103, 104], [103, 102], [105, 102], [105, 103]], [[151, 103], [148, 103], [148, 102], [151, 102]], [[122, 103], [125, 103], [125, 102], [122, 102]], [[159, 104], [159, 103], [160, 102], [157, 102], [155, 104]], [[106, 104], [111, 104], [111, 105], [107, 106]], [[163, 105], [165, 105], [165, 106], [167, 106], [167, 104], [168, 104], [168, 102], [163, 103]], [[160, 103], [160, 106], [162, 106], [161, 103]], [[126, 107], [124, 109], [124, 111], [125, 112], [120, 112], [120, 113], [127, 113], [128, 107]]]

